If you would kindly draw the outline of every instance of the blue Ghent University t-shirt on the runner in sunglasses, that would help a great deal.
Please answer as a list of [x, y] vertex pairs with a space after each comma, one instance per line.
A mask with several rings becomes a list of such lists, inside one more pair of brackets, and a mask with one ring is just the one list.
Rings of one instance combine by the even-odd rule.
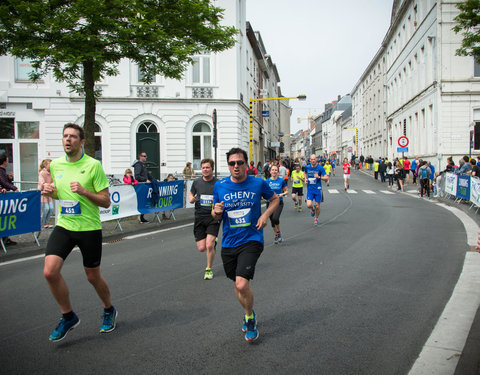
[[274, 194], [264, 179], [254, 176], [240, 183], [226, 177], [215, 184], [213, 203], [224, 204], [222, 247], [237, 247], [249, 241], [263, 245], [263, 229], [256, 228], [262, 214], [261, 198], [269, 200]]

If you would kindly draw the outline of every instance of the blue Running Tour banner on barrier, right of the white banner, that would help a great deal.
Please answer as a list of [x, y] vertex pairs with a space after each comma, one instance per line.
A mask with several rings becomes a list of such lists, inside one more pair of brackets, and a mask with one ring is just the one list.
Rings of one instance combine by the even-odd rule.
[[137, 210], [142, 214], [169, 211], [183, 207], [183, 180], [158, 183], [158, 193], [152, 184], [138, 184]]

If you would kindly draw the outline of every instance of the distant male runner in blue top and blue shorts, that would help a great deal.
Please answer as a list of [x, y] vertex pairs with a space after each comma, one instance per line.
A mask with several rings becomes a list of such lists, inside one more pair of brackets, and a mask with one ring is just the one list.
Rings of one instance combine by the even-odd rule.
[[[318, 226], [318, 216], [320, 215], [320, 202], [323, 202], [322, 180], [329, 181], [325, 169], [318, 164], [317, 156], [310, 155], [310, 164], [305, 167], [305, 184], [307, 184], [307, 207], [311, 215], [315, 216], [313, 224]], [[313, 209], [315, 201], [315, 209]]]

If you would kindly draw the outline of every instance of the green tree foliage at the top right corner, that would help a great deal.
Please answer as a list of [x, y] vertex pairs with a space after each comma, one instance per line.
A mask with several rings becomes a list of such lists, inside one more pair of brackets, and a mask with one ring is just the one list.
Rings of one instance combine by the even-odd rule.
[[453, 31], [462, 31], [462, 47], [457, 49], [458, 56], [473, 56], [480, 64], [480, 0], [465, 0], [457, 4], [460, 14], [454, 20], [458, 23]]

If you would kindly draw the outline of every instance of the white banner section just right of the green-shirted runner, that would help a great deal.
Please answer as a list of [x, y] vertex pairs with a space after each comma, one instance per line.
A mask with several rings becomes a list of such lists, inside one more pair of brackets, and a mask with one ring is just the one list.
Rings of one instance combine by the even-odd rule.
[[117, 185], [108, 188], [111, 204], [108, 208], [100, 208], [100, 220], [117, 220], [123, 217], [138, 215], [137, 194], [132, 185]]

